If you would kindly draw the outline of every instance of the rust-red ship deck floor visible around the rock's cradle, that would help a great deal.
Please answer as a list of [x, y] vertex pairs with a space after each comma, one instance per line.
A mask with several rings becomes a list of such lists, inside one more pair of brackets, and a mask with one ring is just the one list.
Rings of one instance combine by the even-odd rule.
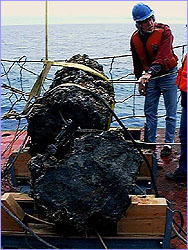
[[[164, 139], [164, 129], [158, 129], [157, 142], [162, 143]], [[178, 129], [175, 135], [175, 141], [179, 142]], [[19, 138], [15, 138], [15, 131], [2, 131], [1, 132], [1, 167], [8, 160], [8, 156], [15, 150], [18, 150], [25, 138], [26, 132], [23, 132]], [[11, 142], [15, 140], [14, 144]], [[143, 130], [141, 131], [141, 140], [143, 139]], [[7, 148], [9, 146], [9, 148]], [[157, 156], [157, 188], [160, 197], [166, 198], [171, 203], [172, 210], [179, 210], [184, 219], [184, 230], [187, 230], [187, 183], [186, 182], [173, 182], [165, 179], [165, 174], [174, 171], [178, 167], [180, 156], [180, 146], [174, 145], [170, 157], [161, 159], [160, 151], [162, 145], [157, 145], [155, 154]], [[2, 193], [19, 191], [18, 187], [13, 187], [10, 181], [2, 183]], [[178, 214], [177, 222], [180, 223]], [[175, 217], [176, 218], [176, 217]], [[186, 246], [177, 237], [171, 240], [171, 248], [173, 249], [186, 249]]]

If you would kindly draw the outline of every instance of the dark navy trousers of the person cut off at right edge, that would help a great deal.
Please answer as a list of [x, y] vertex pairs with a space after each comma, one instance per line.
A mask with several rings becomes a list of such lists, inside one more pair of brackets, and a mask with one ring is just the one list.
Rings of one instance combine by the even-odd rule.
[[181, 142], [181, 155], [179, 160], [179, 168], [176, 170], [178, 173], [187, 173], [187, 109], [182, 108], [180, 132]]

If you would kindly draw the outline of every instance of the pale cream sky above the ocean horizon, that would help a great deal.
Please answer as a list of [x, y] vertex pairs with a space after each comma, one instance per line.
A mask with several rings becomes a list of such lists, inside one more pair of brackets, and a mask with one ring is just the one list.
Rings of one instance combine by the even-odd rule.
[[[48, 1], [48, 24], [130, 23], [140, 1]], [[157, 22], [187, 23], [187, 1], [142, 1]], [[45, 1], [1, 0], [1, 25], [45, 23]]]

